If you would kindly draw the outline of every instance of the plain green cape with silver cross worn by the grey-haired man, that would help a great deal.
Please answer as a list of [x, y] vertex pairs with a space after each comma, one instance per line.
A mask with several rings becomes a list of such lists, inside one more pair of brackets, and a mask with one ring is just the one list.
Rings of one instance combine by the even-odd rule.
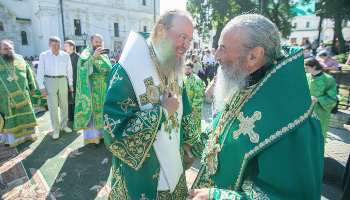
[[[210, 199], [320, 198], [324, 143], [303, 53], [298, 47], [283, 50], [289, 56], [254, 86], [232, 92], [229, 109], [222, 109], [193, 145], [203, 165], [192, 188], [210, 188]], [[220, 120], [227, 113], [227, 120]], [[216, 134], [215, 147], [210, 141]], [[216, 149], [217, 165], [210, 160]]]

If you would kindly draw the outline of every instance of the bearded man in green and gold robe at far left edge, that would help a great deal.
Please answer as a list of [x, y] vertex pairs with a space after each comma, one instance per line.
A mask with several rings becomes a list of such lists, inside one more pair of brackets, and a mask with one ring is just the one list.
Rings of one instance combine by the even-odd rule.
[[31, 102], [34, 73], [13, 48], [12, 41], [0, 41], [0, 137], [10, 147], [35, 141], [39, 132]]

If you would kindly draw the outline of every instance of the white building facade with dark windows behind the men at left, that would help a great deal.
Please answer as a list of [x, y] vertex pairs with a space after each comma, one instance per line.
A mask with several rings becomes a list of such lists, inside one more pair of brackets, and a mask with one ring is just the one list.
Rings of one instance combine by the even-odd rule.
[[[71, 39], [81, 52], [82, 34], [100, 34], [105, 48], [122, 50], [130, 30], [150, 32], [159, 0], [1, 0], [0, 40], [10, 39], [20, 55], [49, 49], [51, 36]], [[63, 49], [63, 45], [62, 45]]]

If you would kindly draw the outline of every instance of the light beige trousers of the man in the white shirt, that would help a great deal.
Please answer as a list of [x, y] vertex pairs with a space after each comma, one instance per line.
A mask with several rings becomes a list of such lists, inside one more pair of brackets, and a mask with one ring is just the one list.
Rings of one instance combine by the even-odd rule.
[[[68, 117], [68, 83], [67, 78], [48, 78], [44, 80], [45, 89], [48, 92], [46, 97], [53, 132], [59, 133], [61, 128], [67, 126]], [[58, 119], [58, 102], [61, 111], [61, 120]]]

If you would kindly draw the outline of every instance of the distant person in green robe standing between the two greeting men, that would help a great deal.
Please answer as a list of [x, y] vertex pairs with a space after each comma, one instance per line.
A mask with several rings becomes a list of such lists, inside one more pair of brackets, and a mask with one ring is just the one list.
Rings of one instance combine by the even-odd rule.
[[192, 62], [185, 63], [185, 74], [183, 81], [189, 97], [190, 105], [195, 118], [195, 125], [198, 132], [202, 132], [201, 109], [203, 108], [203, 81], [194, 73]]

